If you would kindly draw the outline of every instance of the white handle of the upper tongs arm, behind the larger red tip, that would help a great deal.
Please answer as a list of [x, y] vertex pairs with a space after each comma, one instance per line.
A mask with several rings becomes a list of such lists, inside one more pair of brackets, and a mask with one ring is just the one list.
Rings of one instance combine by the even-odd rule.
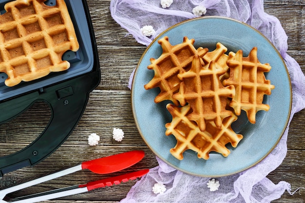
[[21, 189], [24, 189], [24, 188], [27, 188], [27, 187], [39, 184], [39, 183], [50, 181], [50, 180], [56, 179], [56, 178], [64, 176], [64, 175], [67, 175], [67, 174], [70, 174], [70, 173], [74, 173], [74, 172], [79, 171], [81, 169], [82, 169], [82, 166], [81, 166], [81, 164], [79, 164], [79, 165], [76, 165], [74, 167], [67, 168], [65, 170], [59, 171], [57, 173], [53, 173], [53, 174], [50, 174], [50, 175], [47, 175], [47, 176], [35, 179], [33, 181], [29, 181], [29, 182], [26, 182], [26, 183], [21, 183], [19, 185], [15, 185], [13, 187], [9, 187], [9, 188], [0, 190], [0, 200], [3, 200], [5, 195], [7, 195], [7, 194], [9, 194], [11, 192], [15, 192], [15, 191], [18, 191], [18, 190], [21, 190]]

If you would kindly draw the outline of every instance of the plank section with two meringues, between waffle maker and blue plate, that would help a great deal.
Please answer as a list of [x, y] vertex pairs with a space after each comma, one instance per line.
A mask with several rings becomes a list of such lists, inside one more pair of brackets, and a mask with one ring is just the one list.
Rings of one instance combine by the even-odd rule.
[[[124, 131], [122, 142], [113, 139], [114, 127]], [[105, 145], [146, 146], [134, 123], [130, 91], [95, 90], [74, 133], [76, 136], [70, 136], [67, 142], [80, 142], [77, 135], [96, 133], [101, 136], [101, 143]], [[84, 138], [82, 143], [87, 143], [86, 137]]]

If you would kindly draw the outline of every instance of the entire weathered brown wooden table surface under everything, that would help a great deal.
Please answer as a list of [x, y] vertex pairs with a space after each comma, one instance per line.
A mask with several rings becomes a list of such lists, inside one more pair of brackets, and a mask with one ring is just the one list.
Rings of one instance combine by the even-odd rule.
[[[127, 31], [111, 17], [110, 0], [88, 0], [101, 69], [101, 82], [90, 94], [86, 110], [74, 132], [50, 157], [34, 167], [5, 174], [0, 179], [0, 189], [59, 171], [80, 162], [134, 149], [144, 150], [145, 158], [134, 166], [110, 175], [97, 175], [88, 170], [58, 178], [46, 183], [23, 189], [12, 197], [46, 191], [64, 186], [95, 181], [137, 169], [157, 166], [155, 156], [143, 142], [133, 120], [131, 91], [127, 88], [129, 76], [136, 67], [146, 47], [137, 43]], [[277, 17], [288, 35], [288, 54], [305, 72], [305, 2], [303, 0], [265, 0], [265, 11]], [[19, 151], [31, 143], [45, 128], [51, 117], [49, 107], [38, 102], [21, 116], [0, 125], [0, 155]], [[289, 127], [287, 155], [283, 163], [267, 177], [273, 182], [286, 181], [294, 191], [305, 186], [305, 110], [295, 114]], [[125, 133], [122, 142], [112, 138], [113, 128]], [[58, 132], [60, 133], [60, 132]], [[101, 137], [96, 146], [89, 146], [87, 138], [91, 133]], [[76, 203], [117, 203], [123, 199], [134, 181], [113, 187], [64, 197], [61, 201]], [[274, 203], [304, 203], [305, 190], [298, 190], [293, 196], [287, 192]]]

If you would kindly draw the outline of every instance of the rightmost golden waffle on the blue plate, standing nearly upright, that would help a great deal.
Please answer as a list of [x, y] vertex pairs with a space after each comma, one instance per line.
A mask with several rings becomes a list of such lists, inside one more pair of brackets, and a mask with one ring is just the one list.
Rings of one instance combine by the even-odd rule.
[[269, 110], [269, 105], [263, 103], [264, 95], [270, 95], [274, 85], [266, 80], [264, 72], [269, 72], [271, 66], [262, 64], [257, 59], [257, 47], [254, 47], [248, 57], [243, 57], [243, 51], [237, 51], [235, 57], [227, 62], [230, 68], [229, 79], [224, 85], [234, 85], [235, 96], [229, 105], [236, 115], [241, 109], [247, 112], [248, 120], [255, 123], [255, 115], [259, 110]]

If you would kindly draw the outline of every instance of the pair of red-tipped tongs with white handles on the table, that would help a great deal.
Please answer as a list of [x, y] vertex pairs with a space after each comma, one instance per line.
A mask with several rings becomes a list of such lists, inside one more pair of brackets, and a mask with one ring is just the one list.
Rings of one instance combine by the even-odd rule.
[[[140, 150], [125, 152], [121, 154], [116, 154], [108, 157], [103, 157], [100, 159], [95, 159], [92, 161], [82, 162], [81, 164], [59, 171], [54, 174], [50, 174], [41, 178], [38, 178], [33, 181], [29, 181], [26, 183], [22, 183], [13, 187], [9, 187], [3, 190], [0, 190], [0, 203], [6, 203], [6, 201], [3, 200], [6, 194], [9, 194], [11, 192], [38, 184], [43, 183], [73, 172], [76, 172], [78, 170], [82, 169], [89, 169], [94, 173], [98, 174], [108, 174], [113, 173], [116, 171], [123, 170], [125, 168], [128, 168], [132, 166], [133, 164], [139, 162], [144, 157], [144, 152]], [[14, 198], [10, 199], [9, 202], [14, 203], [35, 203], [39, 201], [44, 200], [50, 200], [50, 199], [56, 199], [59, 197], [65, 197], [69, 195], [79, 194], [83, 192], [88, 192], [90, 190], [105, 187], [105, 186], [111, 186], [113, 184], [119, 184], [122, 182], [127, 182], [129, 180], [135, 180], [136, 178], [142, 177], [143, 175], [147, 174], [149, 172], [149, 169], [139, 170], [132, 173], [127, 173], [111, 178], [102, 179], [99, 181], [94, 181], [86, 184], [79, 184], [74, 185], [70, 187], [55, 189], [51, 191], [46, 191], [42, 193], [37, 193], [33, 195], [28, 195], [24, 197]]]

